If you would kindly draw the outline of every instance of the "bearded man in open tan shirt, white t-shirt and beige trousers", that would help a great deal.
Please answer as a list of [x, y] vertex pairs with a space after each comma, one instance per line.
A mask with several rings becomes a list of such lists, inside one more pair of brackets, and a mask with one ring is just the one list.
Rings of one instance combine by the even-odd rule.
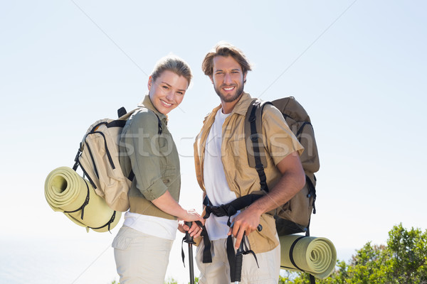
[[[219, 206], [260, 190], [258, 173], [248, 165], [244, 136], [244, 119], [253, 99], [243, 88], [251, 65], [241, 50], [222, 42], [206, 55], [202, 69], [214, 84], [221, 105], [206, 116], [196, 137], [196, 176], [209, 204]], [[196, 254], [201, 284], [230, 283], [228, 236], [235, 237], [234, 249], [247, 239], [249, 249], [256, 256], [256, 259], [251, 254], [243, 256], [241, 283], [260, 283], [261, 280], [278, 283], [280, 245], [275, 220], [267, 212], [288, 202], [305, 185], [299, 158], [303, 148], [278, 109], [265, 105], [262, 119], [268, 160], [265, 175], [270, 191], [230, 219], [214, 214], [206, 219], [212, 262], [203, 263], [201, 242]], [[256, 230], [258, 224], [262, 226], [261, 231]]]

